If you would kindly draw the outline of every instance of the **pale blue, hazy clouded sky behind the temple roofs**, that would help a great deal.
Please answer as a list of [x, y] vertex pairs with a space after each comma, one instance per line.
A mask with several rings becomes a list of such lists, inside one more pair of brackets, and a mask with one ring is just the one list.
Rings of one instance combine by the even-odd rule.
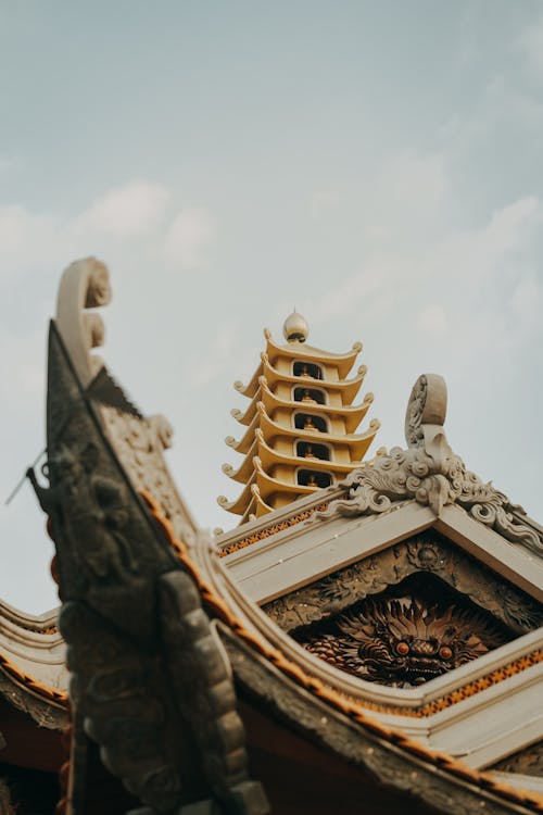
[[294, 304], [311, 344], [363, 342], [374, 450], [439, 373], [454, 451], [541, 523], [539, 0], [0, 0], [0, 598], [56, 604], [29, 487], [3, 500], [43, 448], [47, 324], [88, 255], [102, 354], [174, 425], [201, 526], [237, 523], [232, 383]]

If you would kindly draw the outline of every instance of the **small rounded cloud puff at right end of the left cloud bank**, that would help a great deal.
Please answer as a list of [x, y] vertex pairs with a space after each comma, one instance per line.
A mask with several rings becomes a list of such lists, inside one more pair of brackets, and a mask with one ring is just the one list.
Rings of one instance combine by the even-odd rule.
[[174, 271], [204, 268], [214, 236], [215, 223], [209, 210], [203, 206], [181, 210], [166, 235], [166, 265]]

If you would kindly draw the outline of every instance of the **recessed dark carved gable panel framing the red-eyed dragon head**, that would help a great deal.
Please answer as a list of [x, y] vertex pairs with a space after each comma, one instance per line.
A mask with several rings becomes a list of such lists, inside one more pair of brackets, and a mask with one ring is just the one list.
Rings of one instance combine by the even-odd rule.
[[264, 611], [336, 667], [404, 688], [543, 624], [532, 598], [434, 530], [278, 598]]

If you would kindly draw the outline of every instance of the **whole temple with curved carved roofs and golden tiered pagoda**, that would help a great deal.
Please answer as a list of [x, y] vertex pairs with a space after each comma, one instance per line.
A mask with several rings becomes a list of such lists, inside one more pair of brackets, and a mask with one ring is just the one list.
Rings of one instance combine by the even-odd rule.
[[444, 379], [363, 460], [359, 347], [291, 315], [239, 388], [241, 523], [212, 536], [169, 424], [96, 353], [110, 298], [73, 263], [49, 330], [27, 475], [60, 606], [0, 604], [0, 813], [543, 813], [543, 528], [451, 448]]

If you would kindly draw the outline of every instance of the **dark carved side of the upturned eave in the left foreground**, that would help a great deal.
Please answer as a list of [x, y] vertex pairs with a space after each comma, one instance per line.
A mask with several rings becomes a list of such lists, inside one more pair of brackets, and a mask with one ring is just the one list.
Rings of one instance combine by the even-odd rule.
[[[119, 466], [54, 324], [46, 473], [48, 487], [28, 476], [56, 548], [71, 703], [83, 725], [74, 755], [87, 737], [96, 741], [146, 815], [182, 815], [198, 802], [213, 815], [264, 815], [224, 649], [192, 577]], [[77, 812], [84, 765], [72, 765]]]

